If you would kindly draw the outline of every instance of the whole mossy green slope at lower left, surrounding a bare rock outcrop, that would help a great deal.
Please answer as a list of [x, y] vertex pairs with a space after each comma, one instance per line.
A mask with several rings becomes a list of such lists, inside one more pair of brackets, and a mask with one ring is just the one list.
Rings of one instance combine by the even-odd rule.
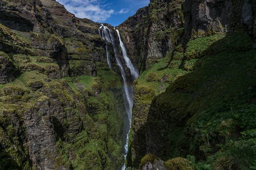
[[[33, 82], [41, 82], [42, 87], [33, 89]], [[41, 103], [60, 109], [50, 115], [39, 115], [39, 119], [54, 126], [55, 149], [46, 157], [52, 157], [55, 168], [115, 169], [122, 165], [124, 110], [120, 79], [112, 70], [99, 69], [97, 77], [59, 80], [49, 79], [37, 70], [26, 71], [13, 82], [2, 85], [0, 92], [2, 169], [31, 168], [25, 144], [30, 142], [26, 134], [29, 128], [24, 122], [28, 112], [40, 110]]]

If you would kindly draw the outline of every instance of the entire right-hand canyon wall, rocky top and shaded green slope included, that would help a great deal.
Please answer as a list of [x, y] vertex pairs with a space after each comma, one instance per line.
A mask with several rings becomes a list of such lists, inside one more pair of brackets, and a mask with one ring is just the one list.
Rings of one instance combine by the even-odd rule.
[[[236, 162], [227, 154], [228, 140], [238, 146], [241, 134], [255, 127], [241, 125], [250, 116], [243, 123], [234, 116], [246, 107], [255, 113], [255, 69], [246, 73], [255, 63], [255, 18], [254, 1], [159, 0], [118, 26], [141, 71], [134, 83], [130, 166], [139, 167], [148, 153], [163, 160], [192, 155], [212, 168], [228, 166], [225, 159]], [[141, 161], [148, 162], [154, 164]], [[241, 162], [232, 168], [248, 167]]]

